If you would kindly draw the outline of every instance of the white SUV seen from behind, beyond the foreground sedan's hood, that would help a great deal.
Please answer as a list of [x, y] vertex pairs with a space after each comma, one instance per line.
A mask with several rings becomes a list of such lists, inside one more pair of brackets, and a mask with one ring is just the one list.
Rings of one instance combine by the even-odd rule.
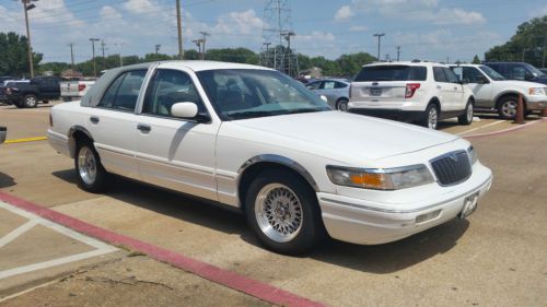
[[351, 83], [348, 109], [437, 129], [451, 117], [470, 125], [474, 104], [470, 88], [447, 66], [415, 60], [363, 66]]

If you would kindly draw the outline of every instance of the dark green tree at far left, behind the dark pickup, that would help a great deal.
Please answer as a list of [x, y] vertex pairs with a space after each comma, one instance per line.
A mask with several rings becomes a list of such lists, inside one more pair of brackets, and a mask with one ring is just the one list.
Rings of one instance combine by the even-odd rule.
[[[42, 54], [33, 52], [34, 69]], [[0, 75], [28, 75], [28, 44], [25, 36], [13, 32], [0, 33]]]

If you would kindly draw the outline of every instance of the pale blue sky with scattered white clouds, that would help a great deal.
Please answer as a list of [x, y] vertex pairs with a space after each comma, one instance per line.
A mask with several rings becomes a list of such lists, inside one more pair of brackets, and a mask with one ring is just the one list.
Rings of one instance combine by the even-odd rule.
[[[279, 0], [283, 29], [296, 35], [291, 46], [301, 54], [336, 59], [342, 54], [377, 54], [381, 58], [450, 62], [480, 58], [505, 43], [516, 26], [547, 14], [538, 0]], [[184, 48], [208, 32], [207, 48], [246, 47], [259, 51], [264, 29], [276, 23], [267, 3], [277, 0], [181, 0]], [[33, 49], [43, 62], [77, 62], [92, 58], [90, 37], [105, 43], [105, 54], [143, 56], [177, 54], [175, 0], [39, 0], [28, 11]], [[286, 22], [291, 21], [291, 22]], [[23, 4], [0, 0], [0, 32], [25, 34]], [[268, 32], [266, 32], [268, 33]], [[268, 37], [269, 35], [266, 35]], [[267, 40], [272, 40], [268, 38]], [[274, 42], [276, 43], [276, 42]], [[97, 54], [102, 52], [96, 45]]]

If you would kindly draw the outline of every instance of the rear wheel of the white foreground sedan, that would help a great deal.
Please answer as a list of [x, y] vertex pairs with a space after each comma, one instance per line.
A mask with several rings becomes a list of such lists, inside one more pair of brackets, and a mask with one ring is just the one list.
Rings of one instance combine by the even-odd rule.
[[93, 193], [105, 189], [108, 173], [101, 164], [101, 158], [91, 141], [78, 142], [74, 168], [82, 189]]

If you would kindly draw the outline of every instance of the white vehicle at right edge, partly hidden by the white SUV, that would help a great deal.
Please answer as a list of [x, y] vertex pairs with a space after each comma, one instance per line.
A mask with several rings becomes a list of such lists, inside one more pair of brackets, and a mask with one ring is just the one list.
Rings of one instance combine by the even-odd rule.
[[547, 107], [547, 86], [542, 83], [505, 80], [484, 64], [451, 66], [451, 69], [473, 90], [476, 110], [494, 110], [501, 118], [514, 118], [519, 94], [523, 96], [525, 114]]

